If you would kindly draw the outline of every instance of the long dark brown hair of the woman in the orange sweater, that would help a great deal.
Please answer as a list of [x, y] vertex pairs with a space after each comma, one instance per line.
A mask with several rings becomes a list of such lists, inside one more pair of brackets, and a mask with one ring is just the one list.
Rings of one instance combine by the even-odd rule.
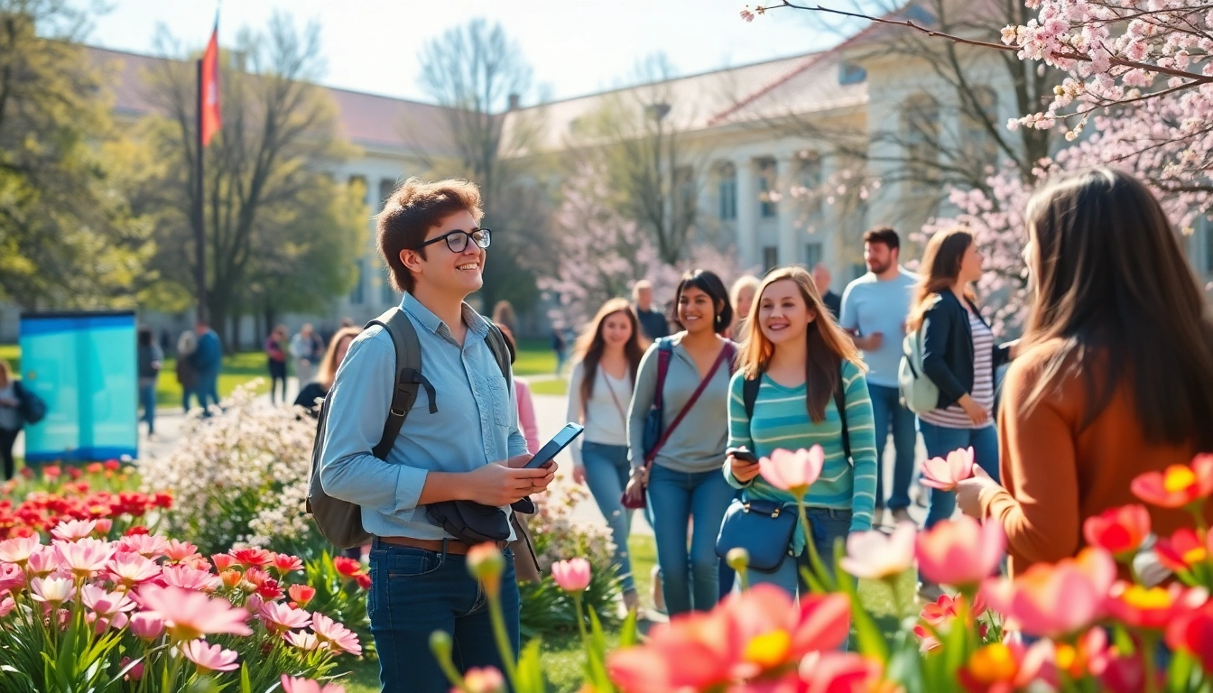
[[1036, 286], [1025, 346], [1055, 346], [1027, 407], [1081, 373], [1086, 427], [1127, 382], [1146, 441], [1213, 450], [1213, 320], [1154, 194], [1090, 169], [1037, 191], [1024, 221]]

